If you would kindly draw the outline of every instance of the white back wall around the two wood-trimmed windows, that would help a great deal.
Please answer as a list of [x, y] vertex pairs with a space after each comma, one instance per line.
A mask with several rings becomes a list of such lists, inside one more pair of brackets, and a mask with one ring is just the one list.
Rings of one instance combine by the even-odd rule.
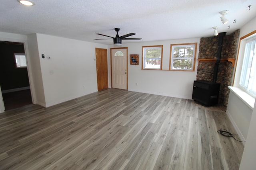
[[[128, 47], [128, 90], [150, 94], [159, 94], [177, 98], [192, 98], [193, 83], [196, 80], [198, 66], [198, 49], [200, 38], [179, 39], [166, 41], [150, 41], [138, 43], [124, 43], [121, 47]], [[195, 71], [168, 71], [170, 63], [170, 45], [180, 43], [198, 43]], [[142, 70], [142, 46], [163, 45], [162, 69]], [[116, 46], [110, 46], [115, 48]], [[120, 47], [120, 46], [118, 46]], [[130, 65], [130, 54], [139, 55], [139, 65]], [[110, 55], [110, 54], [109, 54]], [[166, 71], [167, 70], [167, 71]], [[111, 81], [110, 81], [111, 82]], [[137, 83], [137, 86], [136, 86]]]

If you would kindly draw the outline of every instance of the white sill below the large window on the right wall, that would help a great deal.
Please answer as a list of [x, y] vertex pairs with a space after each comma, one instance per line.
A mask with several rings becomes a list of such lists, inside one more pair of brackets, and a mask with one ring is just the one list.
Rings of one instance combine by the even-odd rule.
[[228, 88], [236, 95], [238, 98], [240, 98], [250, 109], [253, 110], [255, 98], [244, 92], [238, 87], [228, 86]]

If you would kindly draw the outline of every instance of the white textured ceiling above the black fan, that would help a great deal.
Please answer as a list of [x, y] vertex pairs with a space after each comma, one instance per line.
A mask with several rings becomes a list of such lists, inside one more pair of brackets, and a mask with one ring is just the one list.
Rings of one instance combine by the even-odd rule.
[[[115, 37], [136, 33], [123, 43], [213, 36], [234, 32], [256, 17], [256, 0], [34, 0], [23, 6], [2, 0], [0, 31], [28, 35], [42, 33], [88, 42], [112, 44], [96, 33]], [[250, 10], [248, 6], [251, 5]], [[229, 10], [229, 22], [219, 12]], [[236, 23], [233, 21], [236, 20]], [[255, 23], [256, 24], [256, 23]], [[230, 29], [228, 29], [230, 25]]]

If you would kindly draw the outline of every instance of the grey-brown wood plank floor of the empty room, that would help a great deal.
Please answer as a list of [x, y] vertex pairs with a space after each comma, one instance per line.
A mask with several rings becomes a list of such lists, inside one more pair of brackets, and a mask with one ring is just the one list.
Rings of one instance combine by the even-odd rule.
[[[226, 113], [192, 100], [108, 89], [0, 114], [1, 170], [238, 170]], [[239, 138], [238, 138], [239, 139]]]

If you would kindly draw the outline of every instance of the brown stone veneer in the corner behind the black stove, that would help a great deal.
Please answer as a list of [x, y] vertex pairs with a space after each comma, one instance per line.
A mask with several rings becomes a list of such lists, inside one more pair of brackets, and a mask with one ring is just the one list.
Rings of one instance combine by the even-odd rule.
[[[240, 29], [224, 36], [221, 59], [236, 58]], [[216, 59], [218, 36], [200, 39], [198, 59]], [[212, 82], [215, 62], [200, 62], [197, 68], [196, 80]], [[220, 83], [218, 106], [228, 106], [229, 89], [232, 84], [234, 67], [231, 62], [221, 62], [218, 68], [217, 82]]]

